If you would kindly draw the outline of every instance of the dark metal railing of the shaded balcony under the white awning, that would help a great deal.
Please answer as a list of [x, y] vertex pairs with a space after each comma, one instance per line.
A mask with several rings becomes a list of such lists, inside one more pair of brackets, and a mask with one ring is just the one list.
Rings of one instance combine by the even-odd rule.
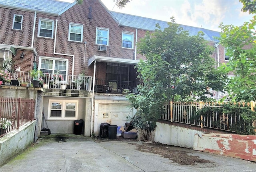
[[142, 82], [118, 81], [118, 80], [95, 80], [94, 91], [96, 93], [122, 94], [124, 90], [130, 90], [132, 93], [138, 93], [137, 86]]

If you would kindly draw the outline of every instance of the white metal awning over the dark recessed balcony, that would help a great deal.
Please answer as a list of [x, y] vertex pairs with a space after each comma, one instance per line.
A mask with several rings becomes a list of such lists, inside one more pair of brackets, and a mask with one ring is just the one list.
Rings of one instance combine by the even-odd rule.
[[122, 63], [128, 65], [137, 65], [138, 60], [130, 60], [130, 59], [121, 59], [115, 57], [104, 57], [104, 56], [96, 56], [94, 55], [88, 60], [88, 66], [90, 66], [94, 61], [98, 62], [106, 62], [106, 63]]

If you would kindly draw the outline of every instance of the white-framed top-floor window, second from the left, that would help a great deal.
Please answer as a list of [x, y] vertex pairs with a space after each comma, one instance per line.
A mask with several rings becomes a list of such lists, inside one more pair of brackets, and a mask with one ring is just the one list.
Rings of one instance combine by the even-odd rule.
[[47, 19], [39, 19], [38, 37], [53, 38], [54, 21]]

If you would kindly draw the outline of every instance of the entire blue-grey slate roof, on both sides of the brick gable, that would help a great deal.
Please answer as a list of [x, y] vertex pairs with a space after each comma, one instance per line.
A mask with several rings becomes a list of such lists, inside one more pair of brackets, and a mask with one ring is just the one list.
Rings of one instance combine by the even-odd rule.
[[[32, 11], [40, 11], [52, 14], [61, 14], [63, 10], [67, 10], [71, 3], [62, 2], [57, 0], [0, 0], [0, 6], [7, 6], [12, 8], [23, 8]], [[66, 9], [65, 9], [66, 8]], [[124, 14], [119, 12], [111, 12], [112, 16], [122, 26], [133, 27], [137, 29], [154, 31], [156, 29], [156, 23], [159, 23], [161, 28], [168, 27], [168, 22], [145, 18], [140, 16], [134, 16], [130, 14]], [[199, 31], [204, 33], [204, 39], [207, 41], [218, 41], [213, 36], [219, 37], [220, 33], [217, 31], [211, 31], [199, 27], [192, 27], [187, 25], [180, 25], [184, 30], [189, 31], [189, 35], [197, 35]]]

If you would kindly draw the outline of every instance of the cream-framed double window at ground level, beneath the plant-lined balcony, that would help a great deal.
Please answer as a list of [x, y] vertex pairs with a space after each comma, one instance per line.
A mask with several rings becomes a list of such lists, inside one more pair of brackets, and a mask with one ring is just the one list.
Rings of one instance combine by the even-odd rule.
[[78, 100], [49, 100], [48, 119], [74, 120], [78, 118]]

